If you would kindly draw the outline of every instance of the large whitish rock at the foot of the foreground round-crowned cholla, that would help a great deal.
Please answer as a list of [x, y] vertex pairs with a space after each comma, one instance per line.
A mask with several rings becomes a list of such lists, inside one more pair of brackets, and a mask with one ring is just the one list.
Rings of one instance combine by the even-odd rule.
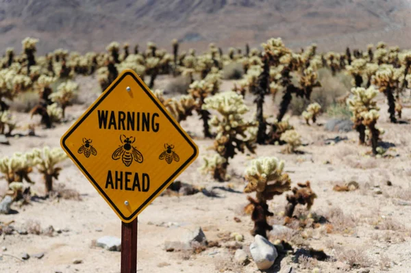
[[259, 270], [271, 268], [278, 257], [275, 246], [261, 235], [254, 237], [254, 242], [250, 245], [250, 252]]

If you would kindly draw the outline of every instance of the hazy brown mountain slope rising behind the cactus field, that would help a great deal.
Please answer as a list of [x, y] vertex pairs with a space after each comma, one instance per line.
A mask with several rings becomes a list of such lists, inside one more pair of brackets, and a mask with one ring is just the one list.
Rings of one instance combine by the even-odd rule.
[[379, 40], [410, 47], [410, 14], [410, 0], [0, 0], [0, 52], [20, 51], [26, 36], [40, 39], [39, 53], [102, 51], [113, 40], [171, 50], [173, 38], [199, 50], [271, 37], [320, 51]]

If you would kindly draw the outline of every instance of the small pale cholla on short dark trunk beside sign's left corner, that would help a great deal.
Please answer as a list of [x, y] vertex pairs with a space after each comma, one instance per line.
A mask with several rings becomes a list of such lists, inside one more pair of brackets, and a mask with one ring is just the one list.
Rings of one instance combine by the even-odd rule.
[[49, 148], [45, 146], [42, 150], [34, 149], [36, 157], [34, 164], [43, 174], [45, 179], [46, 194], [53, 191], [53, 179], [58, 179], [62, 168], [56, 167], [58, 163], [67, 158], [66, 153], [61, 148]]

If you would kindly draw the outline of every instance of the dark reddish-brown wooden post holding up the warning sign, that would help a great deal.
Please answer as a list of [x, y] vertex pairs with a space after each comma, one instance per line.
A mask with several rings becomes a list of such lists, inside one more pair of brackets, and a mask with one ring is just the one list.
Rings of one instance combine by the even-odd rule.
[[121, 222], [121, 273], [137, 272], [137, 218]]

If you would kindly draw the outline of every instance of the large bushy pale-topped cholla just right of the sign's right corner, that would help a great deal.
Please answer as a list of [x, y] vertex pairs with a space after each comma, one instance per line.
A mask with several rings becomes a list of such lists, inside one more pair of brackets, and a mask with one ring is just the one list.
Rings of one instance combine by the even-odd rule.
[[204, 170], [213, 173], [219, 181], [227, 180], [227, 166], [229, 159], [236, 153], [244, 153], [245, 149], [254, 153], [256, 141], [256, 122], [246, 122], [243, 115], [248, 112], [247, 106], [240, 94], [236, 92], [223, 92], [205, 99], [203, 109], [213, 109], [220, 116], [212, 116], [210, 125], [214, 127], [217, 135], [214, 140], [214, 150], [219, 154], [221, 164], [208, 165], [206, 161]]

